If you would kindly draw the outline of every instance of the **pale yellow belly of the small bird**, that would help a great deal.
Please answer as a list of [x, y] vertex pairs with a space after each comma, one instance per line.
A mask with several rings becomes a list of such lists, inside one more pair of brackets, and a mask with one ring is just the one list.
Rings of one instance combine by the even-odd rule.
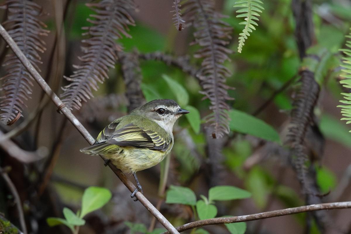
[[137, 172], [160, 163], [168, 152], [119, 146], [115, 153], [104, 155], [113, 165], [125, 172]]

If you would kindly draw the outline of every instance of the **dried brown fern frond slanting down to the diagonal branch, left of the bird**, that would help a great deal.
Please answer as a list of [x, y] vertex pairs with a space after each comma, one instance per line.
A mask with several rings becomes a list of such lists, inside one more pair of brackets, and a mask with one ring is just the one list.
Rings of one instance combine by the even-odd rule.
[[84, 27], [87, 32], [83, 35], [91, 36], [82, 40], [86, 44], [82, 47], [84, 55], [79, 57], [81, 65], [75, 65], [74, 74], [65, 77], [72, 81], [65, 86], [61, 97], [63, 102], [72, 109], [79, 109], [81, 101], [87, 101], [93, 97], [92, 89], [99, 88], [98, 82], [103, 83], [109, 68], [114, 68], [117, 60], [117, 52], [121, 51], [121, 46], [115, 40], [122, 38], [122, 35], [131, 37], [127, 31], [129, 25], [134, 25], [134, 20], [130, 13], [134, 9], [134, 2], [128, 0], [102, 0], [98, 3], [88, 3], [88, 7], [93, 9], [97, 15], [95, 18], [87, 19], [93, 26]]

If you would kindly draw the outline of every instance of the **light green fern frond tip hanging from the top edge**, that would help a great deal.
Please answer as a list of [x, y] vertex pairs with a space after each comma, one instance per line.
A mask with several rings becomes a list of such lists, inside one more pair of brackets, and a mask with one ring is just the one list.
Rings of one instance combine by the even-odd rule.
[[[256, 30], [255, 26], [258, 24], [254, 20], [259, 20], [256, 16], [260, 16], [259, 13], [262, 13], [261, 9], [264, 9], [260, 4], [263, 4], [260, 0], [239, 0], [234, 3], [233, 7], [244, 7], [236, 11], [236, 13], [242, 13], [237, 15], [237, 17], [245, 17], [245, 21], [240, 22], [239, 24], [245, 25], [242, 33], [239, 33], [239, 46], [238, 52], [241, 53], [244, 42], [250, 33], [252, 33], [252, 29]], [[255, 25], [255, 26], [254, 26]]]

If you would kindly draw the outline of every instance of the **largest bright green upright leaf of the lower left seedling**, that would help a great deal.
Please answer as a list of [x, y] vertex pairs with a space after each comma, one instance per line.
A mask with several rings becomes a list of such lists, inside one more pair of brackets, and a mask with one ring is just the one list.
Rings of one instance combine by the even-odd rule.
[[82, 211], [80, 218], [83, 218], [86, 214], [93, 212], [94, 210], [100, 209], [108, 201], [110, 201], [112, 194], [110, 190], [101, 187], [91, 186], [85, 189], [82, 198]]

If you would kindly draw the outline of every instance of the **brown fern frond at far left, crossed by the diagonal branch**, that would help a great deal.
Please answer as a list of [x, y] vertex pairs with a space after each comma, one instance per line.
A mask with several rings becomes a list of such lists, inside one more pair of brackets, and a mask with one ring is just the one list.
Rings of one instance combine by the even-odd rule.
[[[22, 52], [31, 61], [38, 71], [38, 63], [41, 63], [39, 55], [43, 53], [45, 42], [40, 36], [47, 35], [49, 31], [42, 27], [46, 25], [37, 19], [42, 12], [41, 6], [28, 0], [7, 0], [1, 8], [6, 8], [8, 18], [4, 25]], [[6, 74], [1, 78], [2, 95], [0, 109], [1, 121], [5, 124], [11, 122], [18, 113], [22, 113], [25, 101], [31, 98], [33, 77], [27, 72], [20, 60], [14, 55], [6, 55], [4, 65]]]

